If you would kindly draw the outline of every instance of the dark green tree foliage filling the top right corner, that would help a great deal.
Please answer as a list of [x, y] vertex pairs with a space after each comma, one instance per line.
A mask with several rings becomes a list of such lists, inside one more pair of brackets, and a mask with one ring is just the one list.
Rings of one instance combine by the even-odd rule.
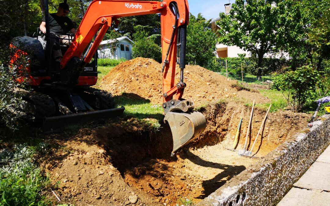
[[330, 58], [330, 1], [303, 0], [298, 5], [296, 27], [291, 29], [283, 49], [289, 52], [294, 66], [310, 62], [323, 70], [322, 61]]

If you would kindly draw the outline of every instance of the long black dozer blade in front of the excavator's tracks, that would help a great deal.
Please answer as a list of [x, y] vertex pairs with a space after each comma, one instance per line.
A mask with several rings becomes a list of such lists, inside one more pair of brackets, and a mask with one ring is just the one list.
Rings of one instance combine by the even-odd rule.
[[63, 130], [74, 125], [84, 125], [99, 119], [109, 119], [123, 114], [125, 107], [104, 109], [90, 112], [74, 113], [69, 115], [45, 117], [42, 129], [44, 131]]

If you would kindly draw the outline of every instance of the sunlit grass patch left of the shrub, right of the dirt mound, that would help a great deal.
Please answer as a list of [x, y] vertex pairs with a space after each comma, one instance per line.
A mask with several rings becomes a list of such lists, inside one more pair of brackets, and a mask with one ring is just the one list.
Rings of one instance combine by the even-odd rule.
[[[271, 100], [272, 107], [270, 112], [275, 112], [281, 110], [288, 106], [286, 99], [284, 98], [281, 91], [276, 90], [259, 90], [260, 94], [264, 97], [268, 97]], [[268, 109], [269, 103], [267, 104], [260, 104], [258, 107], [264, 108], [265, 110]]]

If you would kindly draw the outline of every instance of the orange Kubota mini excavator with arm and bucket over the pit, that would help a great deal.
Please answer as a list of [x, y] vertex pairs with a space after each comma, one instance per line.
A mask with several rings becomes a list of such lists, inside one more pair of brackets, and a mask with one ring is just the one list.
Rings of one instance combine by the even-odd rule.
[[[24, 109], [35, 118], [43, 118], [44, 128], [63, 128], [74, 123], [88, 122], [122, 114], [124, 108], [113, 108], [110, 93], [90, 86], [97, 81], [97, 47], [112, 22], [132, 15], [161, 15], [162, 74], [164, 122], [170, 125], [173, 136], [172, 155], [198, 137], [206, 128], [202, 113], [190, 100], [182, 99], [186, 84], [186, 31], [189, 19], [187, 0], [123, 1], [94, 0], [90, 3], [69, 47], [61, 45], [63, 59], [56, 66], [51, 58], [54, 36], [49, 32], [48, 1], [45, 0], [46, 36], [37, 32], [36, 38], [19, 37], [14, 45], [21, 51], [30, 48], [37, 64], [31, 60], [27, 68], [33, 92], [23, 95]], [[70, 35], [68, 35], [70, 38]], [[94, 39], [93, 42], [91, 40]], [[23, 45], [23, 47], [22, 47]], [[87, 48], [87, 50], [86, 50]], [[85, 53], [84, 53], [85, 51]], [[28, 49], [24, 50], [28, 53]], [[84, 53], [84, 54], [83, 54]], [[176, 64], [180, 82], [175, 83]], [[59, 68], [58, 68], [59, 67]]]

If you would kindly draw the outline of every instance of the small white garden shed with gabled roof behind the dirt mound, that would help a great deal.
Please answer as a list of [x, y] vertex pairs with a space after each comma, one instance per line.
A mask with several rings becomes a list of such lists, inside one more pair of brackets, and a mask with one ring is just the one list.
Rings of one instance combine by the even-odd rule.
[[[118, 41], [116, 44], [116, 50], [112, 52], [114, 49], [111, 48], [111, 43]], [[132, 59], [132, 44], [134, 42], [128, 37], [119, 37], [116, 39], [105, 40], [102, 41], [99, 45], [97, 53], [100, 59], [120, 59], [125, 58], [127, 60]]]

